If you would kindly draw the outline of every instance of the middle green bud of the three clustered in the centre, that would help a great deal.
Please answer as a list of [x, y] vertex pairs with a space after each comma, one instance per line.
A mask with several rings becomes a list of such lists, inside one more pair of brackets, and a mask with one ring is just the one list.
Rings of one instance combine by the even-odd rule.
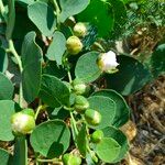
[[84, 112], [87, 108], [89, 108], [89, 102], [85, 97], [76, 96], [74, 107], [75, 110], [80, 113]]

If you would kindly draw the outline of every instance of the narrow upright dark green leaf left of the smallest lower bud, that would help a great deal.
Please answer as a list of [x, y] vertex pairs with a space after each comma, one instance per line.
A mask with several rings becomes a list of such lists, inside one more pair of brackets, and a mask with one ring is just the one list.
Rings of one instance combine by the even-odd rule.
[[77, 146], [78, 146], [80, 154], [84, 157], [86, 157], [86, 155], [87, 155], [88, 145], [89, 144], [88, 144], [88, 139], [87, 139], [86, 125], [84, 124], [77, 136]]

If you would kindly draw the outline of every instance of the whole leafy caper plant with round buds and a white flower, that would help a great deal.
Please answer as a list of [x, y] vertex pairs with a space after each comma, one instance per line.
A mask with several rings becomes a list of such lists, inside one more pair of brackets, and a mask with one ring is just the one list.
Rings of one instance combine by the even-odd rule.
[[0, 0], [0, 141], [13, 145], [0, 148], [1, 163], [124, 158], [129, 142], [120, 128], [130, 107], [123, 96], [151, 78], [139, 61], [100, 43], [127, 20], [124, 2]]

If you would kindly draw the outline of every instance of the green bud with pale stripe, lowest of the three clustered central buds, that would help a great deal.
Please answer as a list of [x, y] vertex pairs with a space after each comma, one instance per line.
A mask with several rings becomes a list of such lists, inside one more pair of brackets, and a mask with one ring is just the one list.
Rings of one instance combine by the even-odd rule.
[[98, 125], [101, 122], [101, 114], [92, 109], [87, 109], [85, 111], [85, 119], [88, 124]]

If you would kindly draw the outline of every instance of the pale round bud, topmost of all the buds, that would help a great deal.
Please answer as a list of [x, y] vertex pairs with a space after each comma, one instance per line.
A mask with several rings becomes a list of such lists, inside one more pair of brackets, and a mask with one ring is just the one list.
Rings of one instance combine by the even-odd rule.
[[85, 23], [81, 22], [76, 23], [74, 26], [74, 34], [79, 37], [85, 36], [87, 34], [87, 28]]

